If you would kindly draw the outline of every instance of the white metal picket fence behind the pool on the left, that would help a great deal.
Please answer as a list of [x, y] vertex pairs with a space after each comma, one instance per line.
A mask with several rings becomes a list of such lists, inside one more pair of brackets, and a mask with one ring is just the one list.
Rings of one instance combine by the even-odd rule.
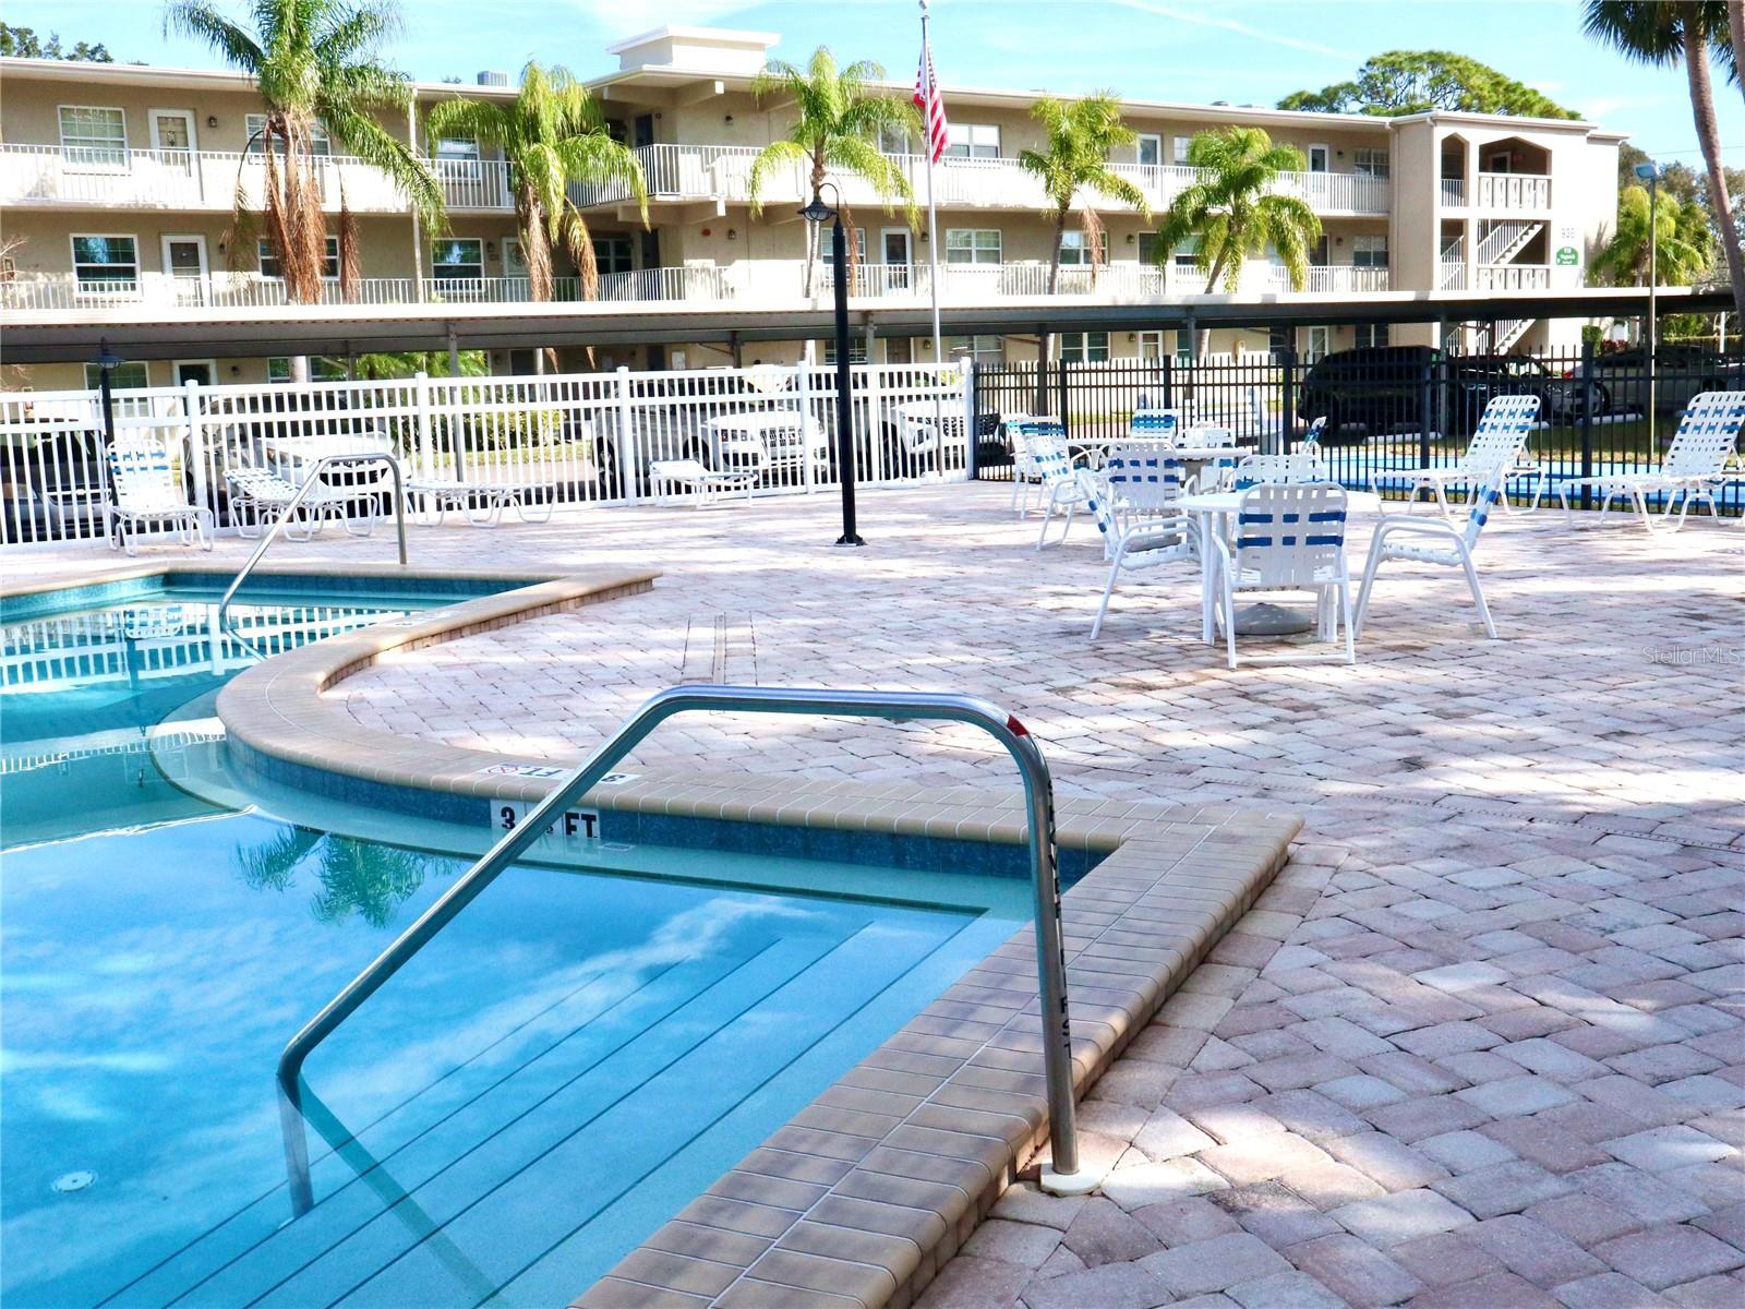
[[[968, 396], [958, 365], [857, 365], [855, 475], [862, 482], [963, 478]], [[113, 394], [115, 440], [155, 440], [188, 503], [220, 531], [253, 515], [225, 473], [302, 478], [316, 459], [380, 449], [417, 483], [513, 487], [529, 503], [625, 503], [649, 494], [649, 463], [696, 459], [756, 469], [759, 494], [831, 487], [836, 370], [745, 370], [424, 377], [372, 382], [143, 387]], [[988, 433], [991, 436], [991, 433]], [[99, 538], [110, 501], [96, 391], [0, 393], [0, 545]], [[380, 466], [323, 475], [380, 506]], [[414, 510], [429, 508], [414, 496]]]

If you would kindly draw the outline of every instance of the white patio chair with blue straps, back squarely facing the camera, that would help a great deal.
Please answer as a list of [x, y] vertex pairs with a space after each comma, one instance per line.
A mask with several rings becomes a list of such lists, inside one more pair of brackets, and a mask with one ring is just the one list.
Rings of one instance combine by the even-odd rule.
[[1345, 492], [1331, 482], [1284, 485], [1262, 482], [1242, 492], [1235, 513], [1235, 541], [1213, 534], [1218, 552], [1215, 607], [1223, 623], [1225, 654], [1235, 667], [1235, 597], [1248, 592], [1310, 592], [1316, 597], [1319, 635], [1338, 641], [1345, 625], [1344, 654], [1270, 656], [1269, 661], [1358, 661], [1351, 621], [1351, 572], [1345, 567]]

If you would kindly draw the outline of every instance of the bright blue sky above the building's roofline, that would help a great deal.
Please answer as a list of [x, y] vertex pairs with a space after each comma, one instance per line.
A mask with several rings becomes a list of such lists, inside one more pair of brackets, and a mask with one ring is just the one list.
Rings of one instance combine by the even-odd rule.
[[[241, 0], [216, 0], [232, 14]], [[606, 45], [665, 23], [780, 33], [803, 61], [829, 45], [909, 79], [920, 52], [914, 0], [401, 0], [387, 63], [421, 80], [529, 59], [583, 77], [611, 72]], [[159, 0], [5, 0], [3, 21], [105, 42], [117, 59], [216, 66], [162, 35]], [[1682, 68], [1642, 68], [1581, 35], [1579, 0], [934, 0], [934, 63], [944, 87], [1113, 89], [1141, 99], [1272, 105], [1349, 79], [1391, 49], [1469, 54], [1579, 112], [1663, 162], [1701, 168]], [[1715, 80], [1729, 168], [1745, 168], [1745, 99]], [[949, 94], [946, 99], [949, 112]]]

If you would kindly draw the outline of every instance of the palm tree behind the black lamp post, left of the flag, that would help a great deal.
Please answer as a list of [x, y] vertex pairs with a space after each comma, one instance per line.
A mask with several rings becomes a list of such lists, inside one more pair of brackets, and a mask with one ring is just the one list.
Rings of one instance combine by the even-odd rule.
[[[752, 161], [749, 190], [752, 213], [763, 213], [763, 195], [771, 175], [785, 166], [810, 168], [811, 194], [817, 195], [829, 169], [864, 176], [872, 192], [885, 202], [885, 213], [895, 211], [900, 199], [909, 227], [920, 223], [914, 192], [895, 162], [878, 148], [879, 131], [890, 127], [918, 136], [921, 119], [914, 105], [897, 96], [881, 96], [871, 89], [885, 77], [885, 70], [871, 59], [860, 59], [846, 68], [836, 66], [836, 56], [820, 45], [804, 68], [782, 59], [771, 59], [752, 80], [752, 94], [759, 99], [785, 96], [794, 101], [797, 117], [787, 136], [766, 145]], [[810, 199], [810, 197], [808, 197]], [[843, 225], [853, 227], [848, 206]], [[848, 243], [850, 258], [855, 244]], [[806, 223], [806, 284], [810, 297], [818, 265], [818, 225]]]

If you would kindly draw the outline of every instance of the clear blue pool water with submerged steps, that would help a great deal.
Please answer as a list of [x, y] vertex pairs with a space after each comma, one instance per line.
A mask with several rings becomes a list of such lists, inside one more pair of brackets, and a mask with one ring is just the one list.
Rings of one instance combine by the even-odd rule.
[[[417, 602], [279, 600], [284, 641]], [[1023, 916], [1002, 878], [518, 866], [311, 1056], [293, 1216], [279, 1049], [485, 833], [173, 785], [211, 721], [157, 724], [244, 661], [202, 604], [3, 632], [9, 1309], [565, 1304]]]

